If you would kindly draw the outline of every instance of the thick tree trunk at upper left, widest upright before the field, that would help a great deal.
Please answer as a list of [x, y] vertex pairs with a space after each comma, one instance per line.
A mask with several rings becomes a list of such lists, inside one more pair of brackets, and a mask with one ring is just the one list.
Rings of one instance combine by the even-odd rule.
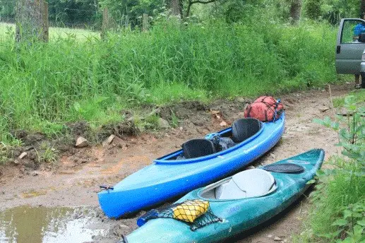
[[16, 41], [49, 40], [48, 4], [43, 0], [18, 0]]

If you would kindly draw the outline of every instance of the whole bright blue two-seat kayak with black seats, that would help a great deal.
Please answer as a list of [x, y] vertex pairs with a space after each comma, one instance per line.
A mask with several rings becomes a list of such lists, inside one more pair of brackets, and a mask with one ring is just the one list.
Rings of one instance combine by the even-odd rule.
[[284, 112], [273, 122], [239, 119], [215, 134], [220, 148], [208, 139], [188, 141], [183, 149], [154, 160], [98, 193], [100, 207], [109, 218], [119, 218], [215, 182], [273, 148], [284, 129]]

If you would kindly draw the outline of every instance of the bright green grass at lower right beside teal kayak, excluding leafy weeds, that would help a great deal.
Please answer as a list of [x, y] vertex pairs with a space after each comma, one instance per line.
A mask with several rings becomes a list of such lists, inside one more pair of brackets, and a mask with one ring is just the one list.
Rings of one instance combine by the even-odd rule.
[[361, 167], [344, 158], [332, 158], [331, 163], [341, 170], [322, 176], [322, 184], [311, 195], [313, 204], [304, 222], [306, 230], [295, 236], [294, 242], [337, 242], [332, 235], [339, 227], [333, 223], [343, 218], [345, 208], [365, 200], [365, 177], [356, 175], [361, 173]]

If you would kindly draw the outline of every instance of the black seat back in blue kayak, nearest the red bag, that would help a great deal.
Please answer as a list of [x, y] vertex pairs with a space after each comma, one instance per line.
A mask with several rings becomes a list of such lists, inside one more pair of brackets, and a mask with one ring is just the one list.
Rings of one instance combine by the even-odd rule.
[[242, 118], [234, 121], [232, 125], [232, 140], [241, 143], [253, 136], [261, 129], [261, 122], [255, 118]]

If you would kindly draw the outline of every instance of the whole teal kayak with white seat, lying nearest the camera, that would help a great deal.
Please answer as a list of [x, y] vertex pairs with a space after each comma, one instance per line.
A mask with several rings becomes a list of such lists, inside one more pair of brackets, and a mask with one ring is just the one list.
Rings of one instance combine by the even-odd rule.
[[[210, 212], [220, 220], [192, 230], [189, 223], [174, 218], [150, 219], [122, 242], [218, 242], [237, 235], [273, 218], [299, 198], [323, 159], [324, 151], [313, 149], [191, 191], [176, 203], [208, 201]], [[289, 167], [300, 170], [286, 171]]]

